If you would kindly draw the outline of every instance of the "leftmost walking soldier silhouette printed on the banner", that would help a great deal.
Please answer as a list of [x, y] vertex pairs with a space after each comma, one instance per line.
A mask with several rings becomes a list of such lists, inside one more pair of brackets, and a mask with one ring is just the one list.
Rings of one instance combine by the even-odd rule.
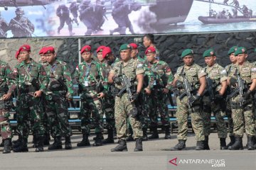
[[68, 31], [71, 35], [75, 35], [75, 33], [72, 32], [72, 23], [71, 23], [71, 18], [70, 18], [70, 11], [65, 4], [60, 4], [58, 6], [56, 15], [60, 18], [60, 26], [58, 27], [58, 34], [60, 34], [60, 30], [64, 27], [64, 24], [67, 23], [68, 25]]

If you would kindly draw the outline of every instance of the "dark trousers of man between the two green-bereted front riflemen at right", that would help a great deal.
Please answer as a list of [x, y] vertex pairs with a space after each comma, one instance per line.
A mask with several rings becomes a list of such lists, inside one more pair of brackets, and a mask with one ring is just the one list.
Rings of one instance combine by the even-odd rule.
[[216, 118], [217, 132], [219, 138], [226, 138], [228, 135], [225, 121], [223, 118], [223, 112], [220, 109], [219, 102], [210, 102], [208, 96], [203, 97], [203, 123], [204, 123], [204, 134], [206, 136], [210, 135], [210, 117], [211, 113]]

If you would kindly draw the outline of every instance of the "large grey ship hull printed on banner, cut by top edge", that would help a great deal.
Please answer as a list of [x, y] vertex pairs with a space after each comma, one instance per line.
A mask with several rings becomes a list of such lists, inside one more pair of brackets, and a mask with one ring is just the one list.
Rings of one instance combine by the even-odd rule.
[[156, 0], [149, 10], [156, 13], [154, 27], [182, 23], [186, 20], [193, 0]]

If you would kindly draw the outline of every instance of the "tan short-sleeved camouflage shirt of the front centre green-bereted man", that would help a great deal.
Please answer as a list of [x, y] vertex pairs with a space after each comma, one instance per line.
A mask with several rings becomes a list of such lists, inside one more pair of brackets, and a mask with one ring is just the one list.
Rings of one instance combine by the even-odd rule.
[[[139, 64], [137, 60], [130, 59], [127, 64], [124, 66], [124, 62], [119, 61], [114, 64], [113, 69], [110, 73], [114, 76], [121, 76], [124, 74], [132, 83], [137, 84], [137, 74], [144, 74], [143, 65]], [[117, 89], [122, 89], [122, 85], [114, 84]]]

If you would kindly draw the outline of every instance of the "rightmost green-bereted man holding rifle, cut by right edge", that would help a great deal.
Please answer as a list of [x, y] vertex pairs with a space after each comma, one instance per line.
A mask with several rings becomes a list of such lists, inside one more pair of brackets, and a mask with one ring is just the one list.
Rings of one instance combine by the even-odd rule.
[[256, 85], [256, 67], [247, 62], [247, 50], [245, 47], [238, 47], [235, 51], [238, 64], [232, 67], [228, 84], [231, 86], [231, 93], [238, 89], [238, 93], [230, 96], [232, 118], [234, 123], [235, 143], [228, 147], [230, 150], [243, 149], [242, 136], [245, 131], [247, 135], [248, 150], [255, 149], [255, 120], [252, 113], [252, 94]]

